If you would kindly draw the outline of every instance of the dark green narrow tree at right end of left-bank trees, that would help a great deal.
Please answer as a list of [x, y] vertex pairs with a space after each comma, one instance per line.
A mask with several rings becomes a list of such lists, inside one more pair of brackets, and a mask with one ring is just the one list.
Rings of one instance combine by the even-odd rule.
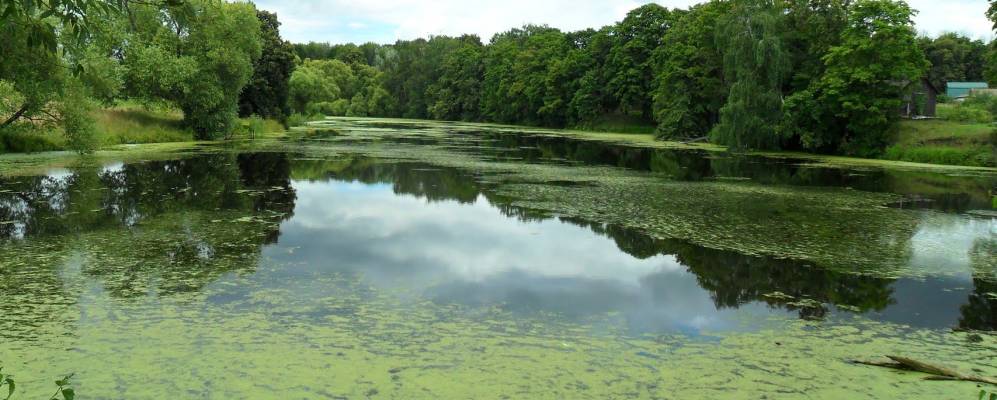
[[277, 14], [261, 10], [256, 15], [263, 48], [253, 65], [253, 78], [239, 96], [239, 115], [284, 121], [290, 114], [288, 85], [294, 71], [294, 49], [280, 37]]

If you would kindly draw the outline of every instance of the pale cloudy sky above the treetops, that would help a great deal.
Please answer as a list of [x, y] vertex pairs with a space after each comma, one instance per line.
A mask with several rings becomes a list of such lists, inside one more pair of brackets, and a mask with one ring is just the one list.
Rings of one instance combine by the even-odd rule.
[[[686, 8], [695, 0], [659, 0]], [[283, 23], [281, 35], [292, 42], [394, 43], [429, 35], [492, 35], [527, 23], [565, 31], [598, 28], [623, 19], [640, 0], [255, 0]], [[958, 32], [993, 38], [984, 12], [987, 0], [908, 0], [919, 10], [922, 34]]]

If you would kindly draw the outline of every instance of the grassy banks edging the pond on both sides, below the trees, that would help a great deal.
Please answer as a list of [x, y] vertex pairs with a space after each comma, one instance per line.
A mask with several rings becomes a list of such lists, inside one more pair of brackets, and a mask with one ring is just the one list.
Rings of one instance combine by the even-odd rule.
[[[177, 144], [180, 147], [189, 146], [195, 142], [193, 133], [182, 125], [182, 114], [178, 110], [165, 107], [147, 107], [139, 104], [125, 103], [115, 107], [97, 110], [93, 114], [100, 150], [119, 152], [121, 150], [137, 150], [125, 147], [135, 144]], [[314, 118], [314, 117], [313, 117]], [[367, 120], [376, 124], [419, 125], [439, 121], [422, 121], [395, 118], [352, 118], [335, 117], [344, 121]], [[297, 125], [298, 121], [292, 123]], [[285, 128], [274, 120], [240, 119], [239, 132], [234, 138], [250, 138], [261, 136], [283, 136]], [[595, 130], [580, 129], [548, 129], [516, 125], [490, 123], [448, 123], [450, 129], [471, 129], [488, 127], [507, 132], [524, 134], [546, 134], [571, 137], [579, 140], [592, 140], [631, 146], [689, 149], [711, 152], [725, 152], [726, 148], [710, 143], [685, 143], [662, 141], [650, 132], [630, 130], [633, 133], [609, 132], [599, 128]], [[314, 131], [311, 128], [293, 129], [299, 133]], [[184, 145], [187, 143], [187, 145]], [[881, 159], [866, 159], [844, 156], [821, 155], [802, 152], [751, 152], [775, 158], [805, 159], [815, 164], [840, 165], [851, 167], [888, 167], [893, 169], [971, 169], [995, 170], [995, 134], [986, 124], [963, 124], [942, 120], [902, 121], [899, 124], [895, 143], [887, 148]], [[153, 146], [158, 148], [159, 146]], [[0, 137], [0, 154], [3, 153], [39, 153], [47, 151], [66, 150], [65, 139], [61, 132], [50, 131], [44, 134], [14, 134]], [[144, 150], [138, 150], [140, 152]], [[14, 159], [31, 160], [33, 157], [15, 157]]]

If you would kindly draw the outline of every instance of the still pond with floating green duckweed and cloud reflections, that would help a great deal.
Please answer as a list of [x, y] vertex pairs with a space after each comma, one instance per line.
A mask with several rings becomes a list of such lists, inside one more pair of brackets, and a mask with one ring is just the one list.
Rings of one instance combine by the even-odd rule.
[[[335, 119], [0, 169], [15, 398], [965, 398], [997, 174]], [[27, 172], [26, 172], [27, 171]]]

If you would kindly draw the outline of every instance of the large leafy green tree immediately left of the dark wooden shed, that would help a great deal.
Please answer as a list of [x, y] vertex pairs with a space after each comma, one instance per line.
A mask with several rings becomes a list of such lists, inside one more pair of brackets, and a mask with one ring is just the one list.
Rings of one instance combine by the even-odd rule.
[[889, 141], [902, 93], [928, 68], [902, 1], [860, 0], [848, 10], [841, 43], [824, 56], [826, 71], [787, 99], [787, 129], [804, 148], [874, 156]]

